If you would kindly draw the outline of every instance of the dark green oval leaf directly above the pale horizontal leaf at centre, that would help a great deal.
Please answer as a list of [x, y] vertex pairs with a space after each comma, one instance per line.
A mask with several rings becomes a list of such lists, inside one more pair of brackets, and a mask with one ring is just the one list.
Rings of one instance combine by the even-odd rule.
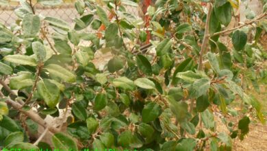
[[152, 75], [151, 64], [145, 56], [138, 55], [136, 57], [136, 63], [137, 63], [138, 69], [140, 69], [143, 73], [147, 75]]

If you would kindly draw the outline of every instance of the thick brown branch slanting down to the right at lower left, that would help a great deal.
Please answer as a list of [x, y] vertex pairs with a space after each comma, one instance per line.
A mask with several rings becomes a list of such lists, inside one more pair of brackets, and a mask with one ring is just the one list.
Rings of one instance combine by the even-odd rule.
[[42, 126], [44, 128], [48, 128], [50, 132], [52, 132], [52, 133], [60, 132], [60, 130], [58, 130], [58, 128], [50, 127], [49, 124], [47, 124], [47, 122], [44, 121], [44, 119], [42, 119], [34, 111], [32, 111], [32, 110], [29, 110], [29, 111], [21, 110], [22, 105], [18, 104], [17, 102], [14, 102], [13, 100], [11, 100], [9, 98], [5, 102], [7, 104], [10, 104], [14, 109], [16, 109], [16, 110], [20, 111], [21, 113], [27, 115], [27, 117], [31, 118], [33, 121], [35, 121], [40, 126]]

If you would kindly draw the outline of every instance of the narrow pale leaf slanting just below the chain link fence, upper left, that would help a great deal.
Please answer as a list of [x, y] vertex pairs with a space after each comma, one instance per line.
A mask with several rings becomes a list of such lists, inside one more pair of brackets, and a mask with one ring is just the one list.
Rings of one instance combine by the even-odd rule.
[[47, 16], [44, 18], [44, 21], [47, 21], [50, 25], [53, 25], [55, 27], [59, 27], [62, 30], [68, 31], [70, 30], [69, 23], [66, 21], [63, 21], [62, 19], [57, 19], [51, 16]]

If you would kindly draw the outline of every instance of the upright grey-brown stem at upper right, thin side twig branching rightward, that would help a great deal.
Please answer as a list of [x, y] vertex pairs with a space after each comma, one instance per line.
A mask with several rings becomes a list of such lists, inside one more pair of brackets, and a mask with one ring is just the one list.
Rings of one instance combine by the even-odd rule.
[[201, 45], [201, 51], [199, 53], [199, 67], [197, 67], [198, 70], [202, 70], [202, 66], [203, 66], [203, 55], [205, 53], [207, 41], [209, 40], [209, 19], [210, 19], [211, 14], [212, 14], [212, 3], [209, 3], [209, 12], [207, 12], [205, 34], [204, 34], [204, 38], [203, 38], [203, 43]]

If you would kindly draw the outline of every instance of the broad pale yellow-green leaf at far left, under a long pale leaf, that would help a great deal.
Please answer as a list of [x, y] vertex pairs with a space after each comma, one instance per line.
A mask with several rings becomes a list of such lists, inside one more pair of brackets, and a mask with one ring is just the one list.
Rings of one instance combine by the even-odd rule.
[[27, 71], [18, 72], [17, 76], [10, 78], [10, 89], [12, 90], [25, 89], [33, 84], [34, 78], [31, 73]]

